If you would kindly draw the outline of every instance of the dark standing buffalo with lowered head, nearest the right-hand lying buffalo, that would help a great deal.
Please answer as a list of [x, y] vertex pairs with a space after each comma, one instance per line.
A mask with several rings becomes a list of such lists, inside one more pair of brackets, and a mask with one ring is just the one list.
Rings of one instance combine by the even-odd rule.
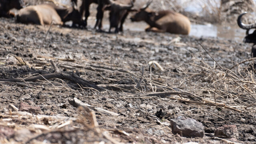
[[[123, 23], [129, 11], [133, 7], [135, 0], [107, 0], [110, 4], [110, 13], [109, 13], [109, 32], [111, 28], [115, 28], [115, 33], [123, 31]], [[120, 25], [120, 26], [119, 26]], [[118, 28], [119, 26], [119, 28]]]

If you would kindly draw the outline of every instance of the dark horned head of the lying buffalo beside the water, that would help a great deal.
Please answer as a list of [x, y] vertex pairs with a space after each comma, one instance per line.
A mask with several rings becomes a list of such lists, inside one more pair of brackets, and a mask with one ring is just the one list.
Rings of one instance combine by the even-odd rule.
[[153, 18], [156, 14], [155, 12], [148, 12], [146, 9], [149, 7], [151, 4], [152, 0], [147, 2], [140, 10], [138, 10], [133, 16], [131, 16], [131, 21], [133, 22], [138, 22], [138, 21], [143, 21], [149, 18]]

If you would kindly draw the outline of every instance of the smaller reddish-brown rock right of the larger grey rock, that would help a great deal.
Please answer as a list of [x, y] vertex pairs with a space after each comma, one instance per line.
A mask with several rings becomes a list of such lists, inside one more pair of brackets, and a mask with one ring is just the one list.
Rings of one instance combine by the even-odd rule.
[[223, 136], [224, 138], [238, 138], [236, 125], [224, 125], [214, 131], [214, 136]]

